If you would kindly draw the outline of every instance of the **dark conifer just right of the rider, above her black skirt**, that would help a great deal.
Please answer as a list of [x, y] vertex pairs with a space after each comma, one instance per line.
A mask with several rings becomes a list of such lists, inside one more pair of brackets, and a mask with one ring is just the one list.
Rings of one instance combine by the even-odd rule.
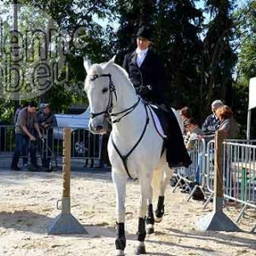
[[201, 97], [195, 91], [201, 84], [202, 10], [189, 0], [160, 1], [158, 10], [155, 47], [170, 76], [169, 98], [174, 106], [186, 104], [201, 113]]

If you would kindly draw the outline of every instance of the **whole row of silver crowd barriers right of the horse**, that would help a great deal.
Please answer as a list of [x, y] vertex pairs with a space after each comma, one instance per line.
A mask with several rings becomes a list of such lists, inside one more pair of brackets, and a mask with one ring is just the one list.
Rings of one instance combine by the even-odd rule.
[[[241, 212], [236, 218], [238, 222], [247, 207], [256, 208], [256, 140], [226, 140], [223, 147], [224, 201], [226, 205], [241, 204]], [[189, 201], [196, 189], [201, 189], [206, 199], [205, 208], [212, 200], [214, 190], [214, 140], [211, 137], [197, 139], [188, 151], [192, 164], [189, 168], [175, 170], [177, 183], [173, 192], [183, 184], [189, 189]]]

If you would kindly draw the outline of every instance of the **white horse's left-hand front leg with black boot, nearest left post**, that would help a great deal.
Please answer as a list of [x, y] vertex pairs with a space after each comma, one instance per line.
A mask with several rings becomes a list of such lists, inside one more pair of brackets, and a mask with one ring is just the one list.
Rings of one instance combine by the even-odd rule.
[[125, 190], [127, 176], [112, 170], [113, 185], [116, 193], [117, 238], [115, 240], [116, 256], [125, 255]]

